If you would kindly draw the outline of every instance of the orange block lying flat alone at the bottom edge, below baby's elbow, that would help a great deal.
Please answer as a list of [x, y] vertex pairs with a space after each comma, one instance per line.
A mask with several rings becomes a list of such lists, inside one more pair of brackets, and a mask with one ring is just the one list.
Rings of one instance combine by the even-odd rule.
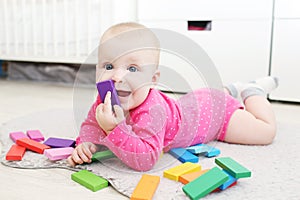
[[159, 184], [160, 177], [148, 174], [143, 174], [136, 188], [134, 189], [130, 199], [131, 200], [151, 200], [157, 186]]

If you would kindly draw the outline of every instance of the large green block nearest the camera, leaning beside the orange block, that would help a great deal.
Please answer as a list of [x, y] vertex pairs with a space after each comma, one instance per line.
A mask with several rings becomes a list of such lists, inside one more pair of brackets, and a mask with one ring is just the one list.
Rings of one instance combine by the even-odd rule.
[[228, 180], [227, 174], [214, 167], [202, 176], [183, 186], [182, 190], [190, 199], [199, 199], [212, 192]]

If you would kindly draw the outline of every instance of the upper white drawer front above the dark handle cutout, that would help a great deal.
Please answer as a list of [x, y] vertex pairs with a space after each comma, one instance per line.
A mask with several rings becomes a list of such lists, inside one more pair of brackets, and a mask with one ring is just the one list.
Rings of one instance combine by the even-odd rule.
[[138, 1], [140, 20], [262, 19], [272, 17], [272, 0]]

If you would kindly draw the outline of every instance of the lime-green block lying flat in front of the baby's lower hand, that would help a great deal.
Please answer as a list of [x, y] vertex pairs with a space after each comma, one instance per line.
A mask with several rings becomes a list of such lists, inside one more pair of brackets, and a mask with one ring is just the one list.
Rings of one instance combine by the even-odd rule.
[[96, 192], [108, 186], [108, 181], [87, 170], [81, 170], [71, 174], [71, 179], [80, 185]]

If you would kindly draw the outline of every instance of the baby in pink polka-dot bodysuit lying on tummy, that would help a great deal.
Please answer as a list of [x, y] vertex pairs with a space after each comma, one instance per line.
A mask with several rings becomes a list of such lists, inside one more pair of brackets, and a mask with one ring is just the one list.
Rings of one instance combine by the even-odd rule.
[[[273, 141], [276, 120], [265, 96], [277, 87], [276, 78], [236, 82], [224, 91], [202, 88], [175, 100], [155, 89], [159, 55], [159, 40], [141, 24], [117, 24], [103, 34], [96, 80], [113, 80], [121, 106], [112, 109], [110, 92], [103, 102], [97, 98], [68, 158], [72, 166], [91, 162], [98, 145], [127, 166], [147, 171], [171, 148], [213, 140], [257, 145]], [[239, 95], [244, 106], [236, 99]]]

